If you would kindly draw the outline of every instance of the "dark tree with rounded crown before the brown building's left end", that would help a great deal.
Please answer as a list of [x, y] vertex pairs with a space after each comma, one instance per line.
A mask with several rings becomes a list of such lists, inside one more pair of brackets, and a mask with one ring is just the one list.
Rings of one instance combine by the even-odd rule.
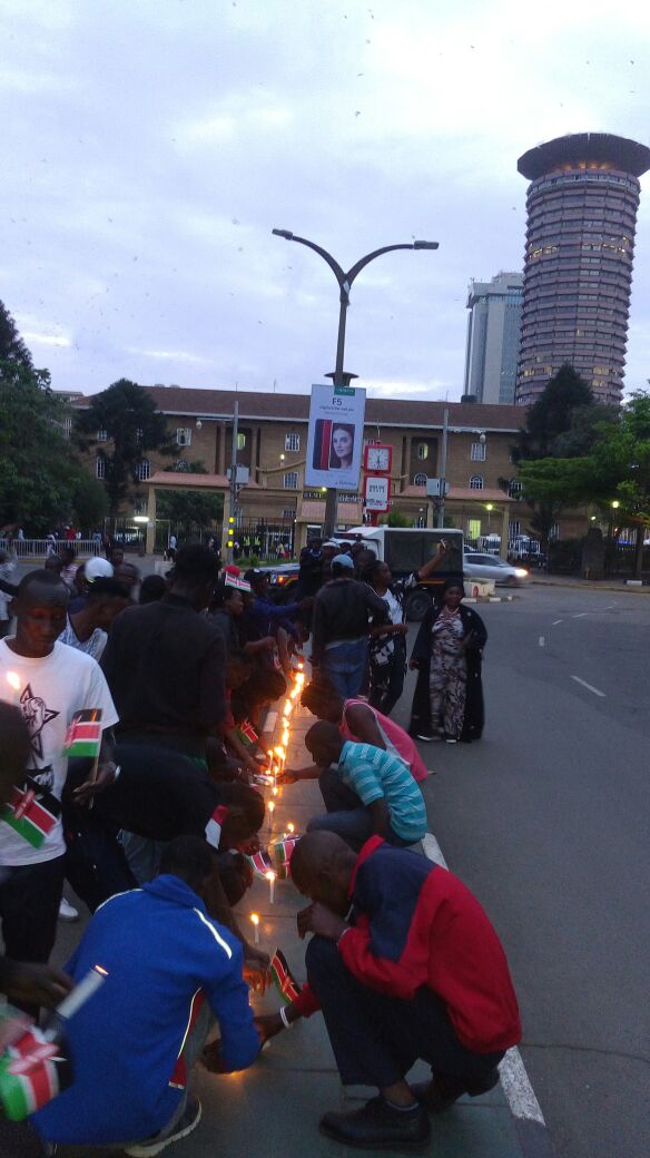
[[97, 434], [103, 434], [104, 485], [115, 528], [121, 504], [138, 486], [138, 467], [146, 453], [176, 453], [164, 415], [141, 386], [120, 378], [97, 394], [88, 410], [79, 411], [76, 428], [84, 449], [97, 446]]

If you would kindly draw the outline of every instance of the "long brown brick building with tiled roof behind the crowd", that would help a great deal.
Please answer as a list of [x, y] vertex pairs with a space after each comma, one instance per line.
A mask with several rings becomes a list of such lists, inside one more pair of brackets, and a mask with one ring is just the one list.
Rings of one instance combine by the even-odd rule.
[[[308, 528], [316, 529], [323, 523], [325, 496], [304, 486], [309, 395], [175, 386], [147, 387], [147, 391], [168, 419], [178, 447], [178, 460], [201, 462], [210, 477], [176, 475], [170, 478], [170, 460], [153, 455], [141, 463], [143, 492], [148, 490], [150, 494], [170, 483], [184, 485], [185, 477], [185, 484], [191, 481], [201, 489], [207, 485], [221, 491], [228, 518], [231, 513], [228, 469], [237, 402], [237, 467], [242, 485], [234, 512], [236, 523], [280, 526], [286, 528], [287, 538], [295, 534], [297, 543], [305, 541]], [[73, 405], [83, 405], [84, 401], [75, 400]], [[496, 532], [502, 535], [504, 547], [508, 521], [510, 536], [527, 529], [527, 508], [519, 511], [517, 506], [517, 484], [510, 457], [523, 419], [518, 406], [369, 398], [364, 439], [389, 444], [393, 449], [392, 506], [415, 522], [433, 525], [435, 512], [431, 499], [427, 498], [426, 483], [428, 477], [440, 475], [445, 409], [449, 410], [446, 478], [451, 488], [446, 514], [468, 540]], [[95, 471], [102, 477], [101, 442], [95, 454]], [[509, 492], [502, 485], [504, 481], [511, 483]], [[361, 488], [362, 484], [363, 479]], [[152, 503], [149, 512], [153, 514]], [[362, 521], [361, 490], [359, 494], [340, 492], [339, 528]], [[584, 520], [581, 525], [584, 527]], [[571, 532], [573, 528], [566, 530], [567, 534]], [[149, 545], [153, 545], [153, 534], [154, 526], [150, 526]]]

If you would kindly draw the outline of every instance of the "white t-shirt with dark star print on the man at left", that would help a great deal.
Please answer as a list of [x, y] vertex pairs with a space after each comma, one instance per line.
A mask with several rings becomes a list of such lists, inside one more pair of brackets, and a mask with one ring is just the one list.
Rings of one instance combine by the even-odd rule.
[[[7, 676], [12, 674], [12, 682]], [[17, 690], [14, 674], [17, 676]], [[118, 714], [99, 665], [83, 652], [59, 640], [44, 659], [16, 655], [0, 639], [0, 699], [20, 706], [29, 727], [31, 752], [27, 775], [61, 799], [68, 770], [64, 743], [75, 712], [102, 711], [102, 728], [112, 727]], [[39, 849], [0, 820], [0, 865], [39, 864], [66, 851], [60, 816]]]

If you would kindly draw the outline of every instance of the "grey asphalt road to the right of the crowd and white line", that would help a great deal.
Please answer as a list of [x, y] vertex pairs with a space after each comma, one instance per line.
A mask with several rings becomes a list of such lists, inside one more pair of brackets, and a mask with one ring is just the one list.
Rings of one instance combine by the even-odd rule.
[[648, 1158], [650, 598], [533, 586], [477, 609], [487, 726], [421, 746], [436, 836], [507, 945], [559, 1158]]

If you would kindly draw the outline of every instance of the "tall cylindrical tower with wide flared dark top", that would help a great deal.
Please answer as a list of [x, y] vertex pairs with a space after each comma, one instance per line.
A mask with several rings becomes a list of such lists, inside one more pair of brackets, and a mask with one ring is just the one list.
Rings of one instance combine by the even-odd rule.
[[570, 362], [620, 402], [634, 234], [645, 145], [608, 133], [559, 137], [517, 162], [531, 181], [516, 401], [529, 405]]

